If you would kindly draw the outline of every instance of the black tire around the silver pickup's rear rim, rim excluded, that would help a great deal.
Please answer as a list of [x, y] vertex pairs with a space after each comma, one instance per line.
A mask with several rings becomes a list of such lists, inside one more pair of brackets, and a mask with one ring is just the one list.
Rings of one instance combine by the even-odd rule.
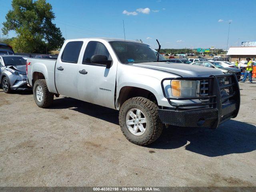
[[[36, 98], [37, 86], [42, 87], [43, 98], [42, 98], [41, 102], [38, 101], [38, 99]], [[33, 86], [33, 95], [34, 95], [34, 100], [38, 107], [47, 108], [47, 107], [51, 106], [53, 103], [54, 94], [49, 92], [45, 79], [36, 80], [36, 82], [34, 83], [34, 86]]]

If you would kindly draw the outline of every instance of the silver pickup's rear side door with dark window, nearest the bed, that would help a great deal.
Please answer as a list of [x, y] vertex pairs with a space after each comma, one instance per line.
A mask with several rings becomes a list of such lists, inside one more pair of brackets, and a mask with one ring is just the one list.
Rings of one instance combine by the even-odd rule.
[[55, 66], [55, 83], [59, 94], [79, 99], [77, 88], [78, 59], [83, 41], [66, 44]]

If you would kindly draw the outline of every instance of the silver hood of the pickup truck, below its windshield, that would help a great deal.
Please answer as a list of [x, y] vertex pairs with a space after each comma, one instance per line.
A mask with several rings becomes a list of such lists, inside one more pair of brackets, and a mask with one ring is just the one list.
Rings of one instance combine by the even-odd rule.
[[196, 66], [182, 63], [171, 63], [171, 62], [148, 62], [148, 63], [134, 63], [133, 66], [150, 68], [154, 70], [161, 70], [176, 74], [182, 77], [203, 77], [210, 75], [223, 74], [221, 70]]

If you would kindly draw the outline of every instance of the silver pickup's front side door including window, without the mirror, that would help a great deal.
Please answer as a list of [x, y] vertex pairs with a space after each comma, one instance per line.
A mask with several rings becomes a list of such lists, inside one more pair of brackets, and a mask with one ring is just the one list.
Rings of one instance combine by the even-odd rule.
[[[104, 42], [106, 43], [106, 42]], [[115, 108], [114, 94], [116, 87], [117, 60], [112, 61], [110, 68], [104, 64], [92, 63], [90, 58], [95, 54], [101, 54], [112, 60], [110, 51], [103, 42], [89, 41], [82, 63], [78, 66], [78, 94], [80, 100]], [[111, 50], [112, 51], [112, 50]], [[112, 51], [113, 52], [113, 51]]]

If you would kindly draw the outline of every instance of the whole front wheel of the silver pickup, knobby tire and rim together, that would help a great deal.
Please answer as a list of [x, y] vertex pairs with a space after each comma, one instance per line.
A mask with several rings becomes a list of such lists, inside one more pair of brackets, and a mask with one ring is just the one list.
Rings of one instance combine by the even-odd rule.
[[143, 97], [134, 97], [124, 102], [119, 112], [119, 124], [130, 142], [142, 146], [157, 140], [163, 130], [158, 106]]

